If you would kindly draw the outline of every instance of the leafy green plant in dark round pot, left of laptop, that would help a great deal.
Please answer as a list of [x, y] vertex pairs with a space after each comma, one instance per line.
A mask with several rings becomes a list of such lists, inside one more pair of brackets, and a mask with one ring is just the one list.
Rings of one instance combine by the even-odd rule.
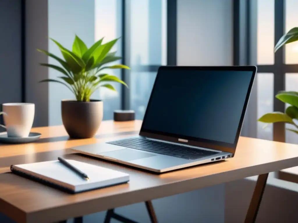
[[127, 85], [117, 76], [109, 75], [109, 69], [129, 69], [128, 66], [108, 65], [121, 57], [110, 52], [118, 39], [102, 44], [103, 38], [90, 48], [76, 35], [72, 50], [63, 47], [50, 38], [60, 49], [63, 59], [45, 50], [39, 50], [54, 58], [61, 66], [40, 64], [55, 69], [61, 73], [59, 79], [46, 79], [40, 82], [56, 82], [63, 84], [74, 95], [76, 100], [62, 100], [61, 113], [63, 125], [71, 138], [93, 137], [103, 119], [103, 102], [91, 99], [91, 95], [100, 87], [116, 89], [109, 82]]

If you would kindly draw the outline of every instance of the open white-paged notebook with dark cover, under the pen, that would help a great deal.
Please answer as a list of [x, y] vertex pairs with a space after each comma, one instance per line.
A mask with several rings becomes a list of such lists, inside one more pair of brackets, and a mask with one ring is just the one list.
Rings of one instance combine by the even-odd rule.
[[84, 180], [58, 160], [12, 165], [10, 169], [14, 174], [73, 194], [129, 181], [126, 173], [75, 160], [66, 161], [86, 173], [89, 180]]

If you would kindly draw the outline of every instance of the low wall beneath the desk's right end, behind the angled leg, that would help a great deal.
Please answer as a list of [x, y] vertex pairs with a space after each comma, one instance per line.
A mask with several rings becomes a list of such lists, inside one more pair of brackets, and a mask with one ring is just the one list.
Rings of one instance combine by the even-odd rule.
[[[296, 223], [298, 186], [268, 178], [256, 223]], [[237, 180], [226, 183], [225, 222], [244, 222], [249, 202], [254, 191], [255, 180]], [[288, 186], [291, 184], [291, 186]], [[295, 189], [296, 188], [296, 189]]]

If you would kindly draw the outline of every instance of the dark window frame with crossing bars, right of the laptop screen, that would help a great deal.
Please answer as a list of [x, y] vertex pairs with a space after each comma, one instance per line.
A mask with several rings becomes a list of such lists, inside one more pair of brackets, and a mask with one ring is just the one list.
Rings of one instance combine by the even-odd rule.
[[[285, 1], [274, 0], [274, 44], [285, 34]], [[257, 0], [234, 0], [234, 65], [257, 65], [257, 10]], [[257, 72], [273, 73], [275, 96], [277, 92], [285, 90], [285, 74], [297, 73], [298, 64], [285, 63], [285, 47], [282, 47], [274, 54], [274, 64], [257, 65]], [[254, 85], [257, 85], [256, 81]], [[244, 124], [246, 136], [257, 137], [256, 106], [255, 90], [250, 99], [247, 122]], [[275, 112], [285, 112], [285, 104], [274, 97], [273, 109]], [[273, 140], [285, 142], [285, 123], [273, 124]]]

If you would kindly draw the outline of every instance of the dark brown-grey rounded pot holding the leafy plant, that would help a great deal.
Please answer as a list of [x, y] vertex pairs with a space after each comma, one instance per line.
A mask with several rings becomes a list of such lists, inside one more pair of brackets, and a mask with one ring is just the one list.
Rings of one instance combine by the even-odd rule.
[[62, 122], [73, 139], [92, 138], [103, 120], [103, 102], [61, 101]]

